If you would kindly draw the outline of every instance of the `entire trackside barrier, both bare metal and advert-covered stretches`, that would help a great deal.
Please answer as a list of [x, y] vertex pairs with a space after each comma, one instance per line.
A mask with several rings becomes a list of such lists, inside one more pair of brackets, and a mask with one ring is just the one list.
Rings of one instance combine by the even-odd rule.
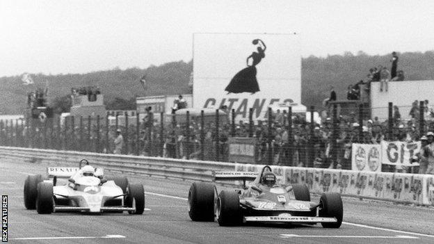
[[[198, 181], [212, 181], [211, 172], [214, 170], [259, 172], [264, 166], [23, 147], [0, 147], [0, 157], [1, 161], [40, 161], [70, 166], [86, 158], [108, 171]], [[282, 184], [307, 184], [312, 193], [337, 192], [351, 197], [434, 206], [433, 175], [274, 165], [271, 168]]]

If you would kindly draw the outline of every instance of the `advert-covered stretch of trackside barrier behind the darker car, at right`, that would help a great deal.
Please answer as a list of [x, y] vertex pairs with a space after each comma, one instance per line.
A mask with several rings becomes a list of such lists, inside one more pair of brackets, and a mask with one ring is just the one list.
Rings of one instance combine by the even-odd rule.
[[[237, 163], [236, 171], [259, 172], [264, 165]], [[336, 192], [350, 197], [434, 206], [434, 175], [360, 172], [272, 166], [282, 184], [307, 184], [311, 193]]]

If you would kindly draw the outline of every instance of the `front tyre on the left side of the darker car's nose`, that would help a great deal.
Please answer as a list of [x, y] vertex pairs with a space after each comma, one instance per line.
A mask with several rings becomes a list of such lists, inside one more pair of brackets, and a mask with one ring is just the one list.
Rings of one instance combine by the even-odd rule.
[[239, 209], [238, 193], [231, 190], [222, 190], [218, 195], [216, 215], [220, 226], [240, 225], [242, 216]]

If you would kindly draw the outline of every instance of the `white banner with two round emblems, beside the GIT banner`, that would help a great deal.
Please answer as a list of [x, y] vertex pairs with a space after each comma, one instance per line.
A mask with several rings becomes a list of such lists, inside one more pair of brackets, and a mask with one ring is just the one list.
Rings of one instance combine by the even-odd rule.
[[381, 172], [381, 145], [353, 143], [351, 170]]

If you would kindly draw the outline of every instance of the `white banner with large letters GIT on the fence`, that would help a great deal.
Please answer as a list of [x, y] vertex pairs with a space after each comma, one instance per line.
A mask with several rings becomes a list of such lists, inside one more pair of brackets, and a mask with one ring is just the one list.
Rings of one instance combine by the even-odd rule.
[[410, 163], [410, 159], [421, 149], [420, 142], [386, 142], [381, 143], [383, 152], [383, 164], [399, 166], [414, 166]]

